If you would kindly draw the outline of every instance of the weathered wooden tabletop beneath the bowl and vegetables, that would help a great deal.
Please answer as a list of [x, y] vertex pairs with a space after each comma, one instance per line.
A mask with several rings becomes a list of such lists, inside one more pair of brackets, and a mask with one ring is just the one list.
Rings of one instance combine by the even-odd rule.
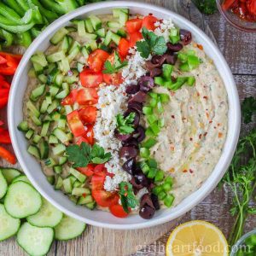
[[[236, 30], [234, 27], [227, 24], [224, 18], [219, 14], [211, 16], [201, 15], [193, 4], [189, 5], [189, 0], [142, 0], [141, 2], [154, 3], [155, 5], [166, 7], [166, 9], [172, 9], [194, 22], [195, 25], [207, 32], [212, 39], [215, 38], [218, 48], [222, 51], [234, 74], [241, 101], [244, 97], [256, 96], [255, 33], [246, 33]], [[0, 112], [0, 118], [1, 116], [4, 116], [3, 111], [2, 113]], [[242, 124], [241, 134], [247, 133], [247, 131], [253, 127], [256, 127], [255, 121], [249, 125]], [[7, 165], [3, 160], [0, 160], [0, 166]], [[76, 240], [67, 242], [55, 241], [48, 255], [164, 255], [166, 240], [172, 231], [172, 227], [191, 219], [204, 219], [212, 224], [216, 224], [223, 230], [224, 235], [228, 236], [234, 221], [229, 213], [231, 198], [231, 193], [228, 189], [215, 189], [211, 195], [190, 212], [187, 212], [183, 218], [173, 223], [162, 225], [161, 227], [141, 230], [137, 233], [108, 231], [89, 227], [89, 229], [84, 232], [84, 236]], [[245, 230], [253, 230], [255, 227], [256, 218], [248, 218]], [[165, 232], [167, 232], [166, 235], [161, 236]], [[111, 239], [112, 236], [114, 239]], [[138, 240], [137, 243], [130, 241], [134, 239], [133, 236]], [[95, 244], [96, 241], [99, 240], [99, 237], [101, 237], [102, 243], [100, 241], [97, 247], [91, 247], [90, 250], [86, 250], [86, 247]], [[117, 246], [120, 242], [122, 248]], [[111, 252], [113, 253], [109, 253], [108, 248], [112, 248]], [[3, 255], [20, 256], [26, 255], [26, 253], [17, 246], [13, 238], [0, 243], [0, 256]]]

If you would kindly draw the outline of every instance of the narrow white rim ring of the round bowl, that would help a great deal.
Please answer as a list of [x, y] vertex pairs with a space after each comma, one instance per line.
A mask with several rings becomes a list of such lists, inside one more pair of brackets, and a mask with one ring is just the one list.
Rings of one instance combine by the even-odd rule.
[[[38, 48], [38, 45], [44, 41], [44, 39], [49, 36], [52, 32], [55, 31], [56, 27], [63, 26], [64, 23], [66, 23], [68, 20], [72, 20], [73, 18], [87, 14], [88, 12], [95, 11], [97, 9], [104, 9], [104, 8], [121, 8], [121, 7], [127, 7], [127, 8], [142, 8], [142, 9], [148, 9], [152, 11], [158, 11], [160, 13], [170, 15], [172, 19], [182, 20], [184, 26], [189, 26], [190, 28], [193, 28], [198, 34], [200, 33], [201, 36], [204, 38], [204, 40], [207, 41], [207, 44], [212, 48], [212, 50], [215, 52], [215, 54], [218, 56], [218, 61], [221, 61], [223, 68], [226, 71], [226, 76], [229, 79], [230, 82], [230, 94], [234, 98], [233, 112], [235, 115], [235, 119], [232, 119], [232, 124], [236, 129], [231, 133], [230, 137], [230, 143], [227, 145], [227, 154], [225, 154], [223, 162], [221, 162], [221, 168], [219, 168], [218, 177], [215, 177], [214, 179], [207, 179], [202, 185], [201, 185], [201, 194], [200, 196], [197, 196], [194, 200], [189, 201], [189, 203], [181, 208], [178, 209], [176, 212], [172, 212], [172, 214], [168, 214], [166, 216], [160, 217], [160, 218], [152, 218], [148, 220], [147, 222], [142, 222], [139, 224], [109, 224], [104, 221], [101, 221], [101, 219], [92, 220], [88, 218], [84, 218], [79, 216], [79, 214], [75, 212], [69, 211], [67, 208], [63, 206], [63, 204], [59, 203], [58, 201], [55, 201], [53, 197], [51, 196], [48, 191], [41, 188], [40, 183], [38, 180], [36, 180], [34, 177], [32, 177], [32, 172], [29, 170], [29, 168], [26, 165], [26, 160], [21, 157], [20, 154], [20, 148], [19, 143], [17, 141], [15, 133], [17, 133], [17, 129], [15, 127], [15, 90], [18, 90], [19, 88], [19, 80], [22, 76], [23, 69], [26, 67], [28, 61], [30, 60], [30, 55]], [[86, 5], [84, 7], [81, 7], [79, 9], [74, 10], [73, 12], [68, 13], [67, 15], [61, 16], [58, 20], [55, 20], [51, 25], [49, 25], [44, 32], [42, 32], [38, 38], [36, 38], [30, 47], [26, 49], [26, 53], [23, 55], [22, 60], [20, 61], [20, 65], [17, 68], [17, 71], [15, 73], [15, 77], [12, 82], [10, 94], [9, 94], [9, 105], [8, 105], [8, 121], [9, 121], [9, 132], [10, 137], [13, 143], [13, 148], [15, 150], [15, 154], [17, 156], [17, 159], [20, 162], [20, 166], [23, 169], [23, 171], [26, 173], [26, 176], [32, 181], [32, 184], [36, 189], [38, 189], [38, 192], [44, 196], [50, 203], [52, 203], [55, 207], [61, 210], [61, 212], [66, 213], [67, 215], [77, 218], [81, 221], [84, 221], [87, 224], [95, 225], [102, 228], [109, 228], [114, 230], [136, 230], [136, 229], [142, 229], [142, 228], [148, 228], [153, 227], [158, 224], [164, 224], [167, 221], [170, 221], [172, 219], [178, 218], [182, 216], [184, 213], [191, 210], [195, 205], [197, 205], [199, 202], [201, 202], [207, 195], [209, 195], [212, 190], [217, 186], [220, 179], [223, 177], [224, 172], [226, 172], [228, 166], [230, 165], [230, 161], [232, 159], [232, 156], [236, 149], [236, 143], [238, 141], [239, 132], [240, 132], [240, 123], [241, 123], [241, 112], [240, 112], [240, 102], [238, 93], [236, 90], [236, 84], [233, 78], [233, 75], [230, 71], [230, 67], [224, 60], [224, 56], [220, 53], [218, 47], [212, 43], [212, 40], [207, 37], [207, 35], [201, 31], [197, 26], [195, 26], [192, 22], [187, 20], [181, 15], [177, 15], [176, 13], [170, 11], [169, 9], [164, 9], [158, 6], [155, 6], [153, 4], [148, 3], [137, 3], [137, 2], [126, 2], [126, 1], [109, 1], [109, 2], [102, 2], [102, 3], [92, 3], [89, 5]], [[229, 128], [230, 130], [230, 128]], [[228, 130], [228, 131], [229, 131]], [[221, 154], [223, 156], [223, 153]], [[221, 157], [220, 156], [220, 157]], [[219, 162], [219, 160], [218, 160]], [[197, 191], [197, 190], [196, 190]]]

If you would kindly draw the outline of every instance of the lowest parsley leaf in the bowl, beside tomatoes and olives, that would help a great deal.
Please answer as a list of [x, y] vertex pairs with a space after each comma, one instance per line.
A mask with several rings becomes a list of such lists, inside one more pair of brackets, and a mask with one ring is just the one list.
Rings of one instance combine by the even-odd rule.
[[129, 207], [137, 207], [138, 201], [137, 197], [133, 193], [131, 183], [119, 183], [119, 196], [125, 212], [129, 213]]

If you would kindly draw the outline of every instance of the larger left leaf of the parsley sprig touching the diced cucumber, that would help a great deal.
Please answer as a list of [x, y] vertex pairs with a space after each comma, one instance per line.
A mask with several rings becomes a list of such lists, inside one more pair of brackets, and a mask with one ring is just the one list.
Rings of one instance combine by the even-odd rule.
[[87, 143], [81, 143], [79, 145], [71, 145], [67, 147], [67, 159], [73, 162], [73, 167], [85, 167], [90, 162], [90, 145]]

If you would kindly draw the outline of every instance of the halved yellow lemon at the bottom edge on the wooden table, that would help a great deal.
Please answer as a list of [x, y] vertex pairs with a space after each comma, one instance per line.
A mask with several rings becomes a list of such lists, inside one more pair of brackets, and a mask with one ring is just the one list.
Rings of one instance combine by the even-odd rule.
[[229, 246], [216, 226], [195, 220], [177, 226], [166, 244], [167, 256], [228, 256]]

